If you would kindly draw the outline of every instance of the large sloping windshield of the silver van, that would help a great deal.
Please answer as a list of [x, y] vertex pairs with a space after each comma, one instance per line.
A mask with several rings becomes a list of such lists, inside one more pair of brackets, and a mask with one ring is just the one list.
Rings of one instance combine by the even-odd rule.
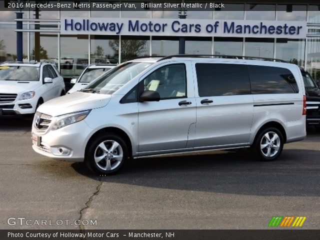
[[106, 72], [99, 80], [87, 86], [92, 92], [112, 94], [152, 62], [125, 62]]

